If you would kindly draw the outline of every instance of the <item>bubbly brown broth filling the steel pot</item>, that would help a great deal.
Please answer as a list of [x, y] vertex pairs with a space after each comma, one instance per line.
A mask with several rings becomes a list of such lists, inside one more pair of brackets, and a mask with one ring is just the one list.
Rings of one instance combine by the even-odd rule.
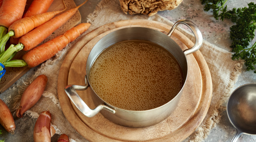
[[125, 110], [149, 110], [172, 100], [183, 75], [177, 60], [153, 42], [127, 40], [95, 60], [90, 85], [104, 101]]

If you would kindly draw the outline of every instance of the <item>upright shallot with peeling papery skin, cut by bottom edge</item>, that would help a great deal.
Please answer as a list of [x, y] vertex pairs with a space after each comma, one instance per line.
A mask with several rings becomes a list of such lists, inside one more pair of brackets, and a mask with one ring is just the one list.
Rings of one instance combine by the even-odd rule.
[[41, 112], [34, 128], [34, 142], [51, 142], [51, 136], [55, 130], [51, 125], [51, 113], [49, 111]]

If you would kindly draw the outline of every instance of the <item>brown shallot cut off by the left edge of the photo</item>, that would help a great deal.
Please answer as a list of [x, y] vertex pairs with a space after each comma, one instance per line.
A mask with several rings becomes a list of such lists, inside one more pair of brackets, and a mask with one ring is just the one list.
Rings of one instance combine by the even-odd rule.
[[0, 124], [7, 132], [14, 133], [15, 123], [8, 106], [0, 99]]

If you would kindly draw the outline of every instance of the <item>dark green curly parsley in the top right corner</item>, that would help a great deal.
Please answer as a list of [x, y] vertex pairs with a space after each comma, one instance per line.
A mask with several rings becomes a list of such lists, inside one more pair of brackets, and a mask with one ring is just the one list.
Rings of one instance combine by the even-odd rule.
[[[233, 8], [227, 11], [227, 0], [201, 0], [205, 4], [204, 10], [213, 10], [213, 16], [216, 20], [219, 18], [231, 19], [236, 25], [230, 27], [230, 39], [232, 40], [231, 48], [233, 48], [232, 59], [243, 59], [247, 70], [255, 70], [256, 65], [256, 42], [252, 47], [248, 47], [255, 37], [256, 29], [256, 4], [253, 2], [248, 7]], [[256, 73], [256, 70], [254, 71]]]

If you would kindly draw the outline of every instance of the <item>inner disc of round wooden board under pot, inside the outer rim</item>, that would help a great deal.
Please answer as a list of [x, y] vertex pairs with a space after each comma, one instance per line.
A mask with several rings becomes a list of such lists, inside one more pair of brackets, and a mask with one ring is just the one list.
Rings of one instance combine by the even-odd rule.
[[[138, 27], [138, 25], [136, 25]], [[120, 28], [126, 28], [127, 26], [122, 26]], [[128, 26], [130, 27], [130, 26]], [[86, 75], [86, 61], [90, 53], [91, 48], [101, 39], [103, 36], [112, 32], [113, 30], [118, 30], [120, 28], [115, 28], [96, 36], [91, 39], [78, 53], [72, 62], [69, 76], [68, 84], [85, 84], [84, 76]], [[183, 50], [187, 47], [181, 43], [177, 38], [173, 37], [175, 42], [177, 42]], [[151, 140], [165, 135], [169, 135], [174, 132], [180, 126], [182, 126], [196, 111], [197, 105], [201, 97], [201, 72], [200, 68], [196, 62], [193, 55], [187, 56], [188, 60], [188, 78], [185, 84], [185, 90], [181, 96], [177, 109], [163, 122], [158, 123], [147, 128], [127, 128], [120, 125], [116, 125], [102, 116], [102, 114], [97, 114], [94, 117], [86, 117], [82, 114], [77, 107], [72, 103], [73, 109], [80, 117], [80, 119], [87, 124], [91, 129], [97, 133], [108, 136], [110, 138], [115, 138], [125, 141], [145, 141]], [[80, 78], [79, 78], [80, 77]], [[80, 91], [79, 96], [85, 103], [94, 109], [95, 106], [92, 102], [90, 91]], [[108, 129], [106, 129], [108, 128]], [[116, 133], [118, 130], [118, 133]], [[149, 135], [150, 133], [150, 135]]]

